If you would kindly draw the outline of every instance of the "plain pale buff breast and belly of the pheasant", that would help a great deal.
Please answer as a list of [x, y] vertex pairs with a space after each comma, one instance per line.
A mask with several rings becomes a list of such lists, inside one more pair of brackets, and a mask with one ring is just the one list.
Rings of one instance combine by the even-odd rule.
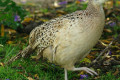
[[[98, 19], [99, 21], [99, 19]], [[97, 22], [97, 20], [95, 21]], [[56, 48], [55, 63], [60, 65], [75, 63], [79, 58], [90, 51], [100, 38], [104, 21], [95, 23], [87, 22], [74, 24], [74, 26], [62, 28], [53, 43]], [[55, 48], [54, 48], [55, 49]]]

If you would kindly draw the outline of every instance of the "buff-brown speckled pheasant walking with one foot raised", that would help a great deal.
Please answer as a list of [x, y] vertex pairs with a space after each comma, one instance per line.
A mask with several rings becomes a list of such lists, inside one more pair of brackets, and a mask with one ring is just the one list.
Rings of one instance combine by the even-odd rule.
[[74, 65], [90, 53], [101, 37], [105, 24], [103, 3], [106, 1], [89, 0], [85, 10], [78, 10], [39, 25], [30, 32], [29, 45], [18, 55], [24, 57], [36, 51], [36, 58], [46, 58], [64, 68], [65, 80], [68, 80], [68, 70], [84, 70], [91, 75], [98, 75], [90, 68], [76, 68]]

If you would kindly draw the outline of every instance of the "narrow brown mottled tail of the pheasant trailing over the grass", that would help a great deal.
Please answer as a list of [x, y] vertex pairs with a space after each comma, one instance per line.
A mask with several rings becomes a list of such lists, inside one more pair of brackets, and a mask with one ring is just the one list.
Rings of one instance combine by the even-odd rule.
[[10, 64], [13, 61], [21, 58], [21, 57], [25, 57], [26, 55], [30, 55], [33, 52], [33, 49], [31, 48], [30, 45], [28, 45], [24, 50], [20, 51], [16, 56], [13, 56], [8, 62], [6, 62], [5, 64]]

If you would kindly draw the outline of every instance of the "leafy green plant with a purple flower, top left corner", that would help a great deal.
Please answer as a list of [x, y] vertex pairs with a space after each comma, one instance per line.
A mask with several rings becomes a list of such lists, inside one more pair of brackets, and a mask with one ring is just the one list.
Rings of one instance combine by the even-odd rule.
[[12, 0], [0, 0], [0, 25], [6, 25], [12, 29], [22, 27], [21, 21], [26, 16], [26, 11], [17, 6]]

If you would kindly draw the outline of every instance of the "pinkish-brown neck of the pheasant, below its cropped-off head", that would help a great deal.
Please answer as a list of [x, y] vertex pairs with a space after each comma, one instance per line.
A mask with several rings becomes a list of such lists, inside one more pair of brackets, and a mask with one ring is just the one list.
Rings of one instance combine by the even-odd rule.
[[91, 1], [88, 2], [87, 10], [90, 13], [104, 14], [103, 5], [102, 4], [95, 5]]

